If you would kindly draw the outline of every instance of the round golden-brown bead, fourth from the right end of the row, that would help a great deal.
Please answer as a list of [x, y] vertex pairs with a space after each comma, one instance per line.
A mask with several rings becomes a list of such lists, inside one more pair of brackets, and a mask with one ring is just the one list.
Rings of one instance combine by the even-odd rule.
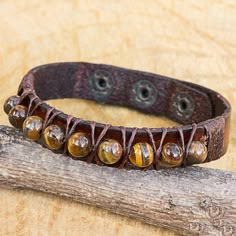
[[99, 159], [108, 165], [118, 162], [123, 154], [123, 148], [114, 139], [106, 139], [98, 146]]

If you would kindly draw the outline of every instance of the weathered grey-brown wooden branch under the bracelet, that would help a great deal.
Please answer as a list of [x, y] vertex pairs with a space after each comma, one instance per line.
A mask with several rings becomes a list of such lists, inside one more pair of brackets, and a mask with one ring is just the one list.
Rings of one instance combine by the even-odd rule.
[[236, 173], [119, 170], [74, 161], [0, 126], [0, 186], [68, 197], [183, 235], [236, 234]]

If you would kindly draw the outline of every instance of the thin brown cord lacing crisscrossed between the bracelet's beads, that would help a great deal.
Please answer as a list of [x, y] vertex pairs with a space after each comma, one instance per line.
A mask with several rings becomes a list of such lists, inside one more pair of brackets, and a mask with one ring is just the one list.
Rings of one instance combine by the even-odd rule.
[[[44, 101], [40, 100], [33, 107], [33, 102], [36, 99], [38, 99], [38, 96], [35, 94], [35, 91], [32, 90], [32, 89], [25, 90], [20, 95], [20, 101], [23, 101], [29, 94], [31, 94], [33, 96], [30, 97], [30, 101], [29, 101], [29, 105], [28, 105], [28, 110], [27, 110], [27, 116], [33, 115], [33, 113], [39, 107], [39, 105], [41, 105], [42, 103], [45, 103]], [[50, 107], [47, 110], [47, 112], [45, 114], [44, 121], [43, 121], [42, 133], [46, 129], [46, 127], [53, 121], [53, 119], [55, 119], [56, 116], [58, 116], [61, 113], [63, 113], [63, 112], [61, 112], [59, 110], [56, 110], [54, 107]], [[70, 128], [70, 124], [71, 124], [73, 118], [74, 117], [72, 115], [68, 115], [67, 118], [66, 118], [66, 130], [65, 130], [65, 139], [64, 139], [64, 144], [65, 145], [64, 145], [63, 155], [67, 155], [67, 142], [68, 142], [69, 137], [72, 135], [72, 133], [76, 129], [77, 125], [82, 121], [80, 118], [74, 119], [74, 122], [73, 122], [73, 124], [72, 124], [72, 126]], [[99, 158], [97, 157], [96, 152], [97, 152], [97, 148], [98, 148], [100, 142], [105, 137], [105, 135], [106, 135], [106, 133], [107, 133], [107, 131], [108, 131], [108, 129], [110, 127], [111, 127], [110, 124], [106, 124], [104, 126], [102, 132], [100, 133], [100, 135], [97, 137], [97, 140], [95, 140], [96, 122], [92, 121], [90, 123], [92, 151], [91, 151], [91, 153], [89, 154], [89, 156], [87, 158], [87, 163], [91, 163], [95, 159], [95, 162], [98, 165], [102, 165], [103, 164], [99, 160]], [[209, 129], [208, 129], [207, 125], [204, 125], [204, 128], [206, 130], [206, 134], [207, 134], [208, 142], [209, 142], [209, 140], [211, 138], [211, 136], [210, 136], [211, 133], [209, 132]], [[158, 165], [158, 160], [160, 158], [160, 155], [161, 155], [161, 152], [162, 152], [162, 149], [163, 149], [163, 143], [164, 143], [164, 140], [165, 140], [165, 137], [166, 137], [166, 134], [167, 134], [168, 130], [167, 130], [167, 128], [162, 128], [161, 140], [160, 140], [159, 147], [157, 148], [156, 144], [155, 144], [155, 140], [153, 138], [153, 134], [152, 134], [151, 129], [149, 129], [149, 128], [144, 128], [144, 129], [146, 130], [146, 132], [147, 132], [147, 134], [149, 136], [149, 140], [150, 140], [151, 146], [152, 146], [153, 151], [154, 151], [154, 161], [153, 161], [152, 165], [150, 165], [150, 166], [148, 166], [146, 168], [143, 168], [142, 170], [151, 169], [152, 167], [154, 167], [155, 169], [159, 169], [160, 167]], [[182, 145], [182, 148], [184, 150], [183, 166], [186, 166], [186, 159], [187, 159], [187, 156], [188, 156], [188, 153], [189, 153], [190, 145], [191, 145], [191, 143], [193, 141], [194, 135], [195, 135], [196, 130], [197, 130], [197, 125], [195, 123], [192, 124], [192, 132], [190, 134], [190, 138], [189, 138], [189, 141], [188, 141], [186, 146], [185, 146], [185, 141], [184, 141], [183, 129], [181, 127], [177, 127], [177, 130], [179, 132], [180, 140], [181, 140], [181, 145]], [[138, 128], [137, 127], [132, 128], [132, 132], [131, 132], [131, 135], [130, 135], [130, 138], [128, 140], [128, 144], [127, 145], [126, 145], [126, 143], [127, 143], [127, 140], [126, 140], [126, 128], [121, 126], [120, 127], [120, 131], [121, 131], [121, 135], [122, 135], [122, 148], [123, 148], [123, 153], [124, 154], [123, 154], [123, 159], [122, 159], [120, 165], [118, 166], [118, 168], [122, 169], [124, 167], [127, 167], [128, 156], [129, 156], [131, 147], [133, 145], [133, 141], [135, 139], [135, 135], [137, 134]]]

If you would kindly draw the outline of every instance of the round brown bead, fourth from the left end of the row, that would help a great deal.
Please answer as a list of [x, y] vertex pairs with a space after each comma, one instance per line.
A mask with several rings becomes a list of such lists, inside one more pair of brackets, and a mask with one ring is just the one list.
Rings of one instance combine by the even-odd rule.
[[58, 125], [49, 125], [43, 132], [43, 142], [51, 150], [60, 149], [64, 138], [64, 130]]

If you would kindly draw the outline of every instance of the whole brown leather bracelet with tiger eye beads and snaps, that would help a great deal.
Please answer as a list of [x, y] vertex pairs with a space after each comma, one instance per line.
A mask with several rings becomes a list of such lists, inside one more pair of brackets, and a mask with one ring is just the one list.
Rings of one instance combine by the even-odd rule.
[[[83, 98], [167, 116], [183, 126], [130, 128], [82, 120], [44, 100]], [[111, 65], [68, 62], [36, 67], [4, 110], [10, 123], [54, 152], [126, 169], [160, 169], [216, 160], [229, 142], [229, 102], [215, 91]]]

